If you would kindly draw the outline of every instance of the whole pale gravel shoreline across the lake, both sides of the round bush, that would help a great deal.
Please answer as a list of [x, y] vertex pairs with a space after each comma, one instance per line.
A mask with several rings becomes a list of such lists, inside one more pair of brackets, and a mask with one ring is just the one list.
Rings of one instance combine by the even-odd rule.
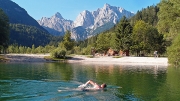
[[[44, 57], [49, 54], [5, 54], [8, 62], [51, 62]], [[102, 56], [88, 58], [83, 55], [75, 55], [67, 60], [67, 63], [94, 63], [94, 64], [121, 64], [121, 65], [165, 65], [168, 66], [166, 57], [121, 57]]]

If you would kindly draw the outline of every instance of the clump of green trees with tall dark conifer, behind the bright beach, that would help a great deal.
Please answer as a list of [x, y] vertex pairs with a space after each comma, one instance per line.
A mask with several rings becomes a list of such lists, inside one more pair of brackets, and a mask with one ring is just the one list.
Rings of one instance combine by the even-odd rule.
[[98, 51], [107, 51], [109, 48], [114, 50], [130, 50], [130, 52], [139, 55], [151, 54], [154, 50], [159, 53], [165, 52], [165, 40], [163, 35], [159, 34], [157, 29], [142, 20], [131, 26], [126, 17], [115, 27], [113, 32], [105, 32], [97, 36], [94, 45]]

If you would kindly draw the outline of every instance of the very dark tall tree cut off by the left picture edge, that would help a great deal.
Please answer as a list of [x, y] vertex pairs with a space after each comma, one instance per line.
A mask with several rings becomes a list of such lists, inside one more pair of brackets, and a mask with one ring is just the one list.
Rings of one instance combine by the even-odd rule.
[[9, 19], [0, 9], [0, 51], [8, 47], [9, 43]]

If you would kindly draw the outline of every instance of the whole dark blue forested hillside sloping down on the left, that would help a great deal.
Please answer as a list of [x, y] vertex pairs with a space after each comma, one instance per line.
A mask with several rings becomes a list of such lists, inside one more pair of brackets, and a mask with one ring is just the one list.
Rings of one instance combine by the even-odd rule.
[[39, 46], [51, 41], [53, 36], [18, 4], [11, 0], [0, 0], [0, 8], [9, 17], [11, 24], [10, 44], [16, 43], [31, 47], [32, 44]]

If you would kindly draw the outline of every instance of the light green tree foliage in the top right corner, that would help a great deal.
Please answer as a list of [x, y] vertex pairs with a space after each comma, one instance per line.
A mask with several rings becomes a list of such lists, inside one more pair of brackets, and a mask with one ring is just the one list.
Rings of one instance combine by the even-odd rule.
[[171, 42], [180, 31], [179, 0], [162, 0], [158, 6], [160, 8], [158, 12], [158, 31]]

